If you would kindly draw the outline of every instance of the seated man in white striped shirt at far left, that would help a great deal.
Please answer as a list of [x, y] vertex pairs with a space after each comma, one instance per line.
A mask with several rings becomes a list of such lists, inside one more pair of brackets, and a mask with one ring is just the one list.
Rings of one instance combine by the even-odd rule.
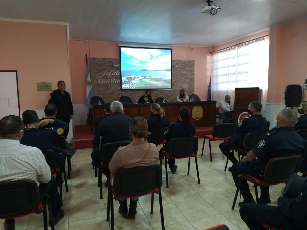
[[[54, 224], [64, 217], [62, 200], [51, 175], [45, 156], [35, 147], [20, 144], [23, 135], [23, 124], [20, 117], [10, 115], [0, 120], [0, 183], [31, 179], [37, 183], [41, 201], [48, 194]], [[15, 229], [14, 219], [4, 222], [4, 229]]]

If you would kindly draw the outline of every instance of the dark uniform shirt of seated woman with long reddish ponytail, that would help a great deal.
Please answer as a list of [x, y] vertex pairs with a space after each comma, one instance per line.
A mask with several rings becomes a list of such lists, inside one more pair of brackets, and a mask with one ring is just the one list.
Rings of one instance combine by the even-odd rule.
[[[169, 128], [167, 128], [165, 132], [165, 140], [166, 144], [161, 148], [161, 150], [165, 150], [169, 143], [169, 140], [175, 137], [185, 137], [189, 136], [188, 133], [188, 122], [190, 122], [189, 133], [194, 136], [196, 134], [195, 123], [193, 121], [177, 121], [170, 124]], [[161, 151], [160, 150], [160, 151]]]

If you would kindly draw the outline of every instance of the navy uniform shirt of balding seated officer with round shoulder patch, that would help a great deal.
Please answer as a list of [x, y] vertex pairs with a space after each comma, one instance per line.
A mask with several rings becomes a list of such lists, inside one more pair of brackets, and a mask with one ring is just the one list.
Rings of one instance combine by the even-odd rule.
[[306, 141], [293, 127], [281, 127], [274, 128], [266, 134], [253, 148], [253, 153], [260, 163], [266, 164], [275, 157], [305, 155], [306, 150]]

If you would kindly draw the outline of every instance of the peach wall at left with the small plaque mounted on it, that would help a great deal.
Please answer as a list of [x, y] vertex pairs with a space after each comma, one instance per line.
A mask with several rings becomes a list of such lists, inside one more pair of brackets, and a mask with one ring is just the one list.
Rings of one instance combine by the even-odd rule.
[[0, 69], [17, 70], [20, 109], [44, 109], [50, 92], [36, 82], [67, 82], [66, 25], [0, 21]]

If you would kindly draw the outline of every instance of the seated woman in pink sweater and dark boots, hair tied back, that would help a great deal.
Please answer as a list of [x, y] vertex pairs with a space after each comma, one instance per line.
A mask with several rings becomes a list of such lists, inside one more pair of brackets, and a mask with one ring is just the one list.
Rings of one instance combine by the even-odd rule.
[[[119, 147], [109, 163], [111, 171], [111, 184], [113, 174], [118, 168], [134, 168], [138, 166], [150, 166], [157, 163], [159, 153], [155, 144], [145, 140], [150, 132], [144, 117], [134, 117], [129, 123], [129, 132], [132, 142], [124, 147]], [[119, 198], [118, 212], [122, 217], [134, 219], [136, 214], [137, 198], [130, 198], [129, 212], [126, 198]]]

